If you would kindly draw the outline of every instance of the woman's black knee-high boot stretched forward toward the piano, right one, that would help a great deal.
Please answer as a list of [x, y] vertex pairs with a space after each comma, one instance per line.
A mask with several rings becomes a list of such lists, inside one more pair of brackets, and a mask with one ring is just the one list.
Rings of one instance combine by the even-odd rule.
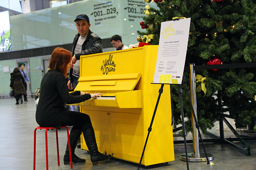
[[93, 128], [87, 129], [84, 133], [84, 140], [90, 152], [92, 165], [99, 164], [99, 161], [105, 161], [110, 159], [111, 155], [105, 155], [98, 151], [96, 138]]

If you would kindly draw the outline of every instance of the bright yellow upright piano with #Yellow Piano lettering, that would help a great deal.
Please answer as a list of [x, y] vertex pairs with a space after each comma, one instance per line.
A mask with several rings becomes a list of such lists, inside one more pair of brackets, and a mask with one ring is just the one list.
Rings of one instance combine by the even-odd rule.
[[[158, 46], [111, 51], [80, 58], [75, 90], [104, 95], [76, 105], [90, 115], [100, 152], [140, 162], [161, 85], [153, 82]], [[174, 160], [170, 86], [165, 85], [142, 164]], [[82, 137], [81, 148], [88, 150]]]

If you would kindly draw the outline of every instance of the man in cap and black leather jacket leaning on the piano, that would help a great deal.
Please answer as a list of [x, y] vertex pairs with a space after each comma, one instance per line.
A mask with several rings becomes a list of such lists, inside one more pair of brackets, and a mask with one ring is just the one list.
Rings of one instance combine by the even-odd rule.
[[77, 15], [75, 21], [76, 34], [73, 47], [72, 47], [72, 63], [68, 76], [68, 89], [73, 90], [76, 88], [78, 78], [80, 75], [80, 56], [102, 53], [102, 40], [93, 33], [89, 28], [91, 26], [90, 19], [87, 15]]

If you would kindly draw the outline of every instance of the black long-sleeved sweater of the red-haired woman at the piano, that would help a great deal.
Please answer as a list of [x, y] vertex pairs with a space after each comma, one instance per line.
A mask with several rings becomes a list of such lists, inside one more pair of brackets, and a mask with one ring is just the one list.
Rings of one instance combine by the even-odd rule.
[[65, 76], [59, 71], [49, 70], [41, 81], [36, 122], [42, 127], [60, 129], [60, 122], [65, 122], [72, 114], [65, 103], [80, 103], [88, 99], [91, 99], [90, 94], [80, 95], [80, 91], [69, 93]]

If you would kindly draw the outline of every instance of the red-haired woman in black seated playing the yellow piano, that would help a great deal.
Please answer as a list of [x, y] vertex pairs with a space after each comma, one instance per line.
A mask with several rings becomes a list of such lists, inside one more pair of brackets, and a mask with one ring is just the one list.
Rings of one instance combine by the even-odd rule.
[[[69, 70], [72, 54], [57, 47], [52, 52], [49, 61], [49, 71], [41, 81], [40, 99], [36, 107], [36, 122], [41, 127], [73, 126], [70, 131], [70, 145], [73, 163], [83, 163], [85, 159], [76, 156], [75, 148], [80, 135], [84, 134], [84, 140], [90, 152], [93, 165], [98, 161], [108, 160], [112, 156], [98, 151], [94, 130], [89, 115], [80, 112], [69, 111], [66, 104], [80, 103], [92, 97], [101, 97], [101, 93], [89, 94], [80, 91], [68, 92], [66, 85], [67, 71]], [[69, 164], [68, 144], [64, 155], [64, 164]]]

